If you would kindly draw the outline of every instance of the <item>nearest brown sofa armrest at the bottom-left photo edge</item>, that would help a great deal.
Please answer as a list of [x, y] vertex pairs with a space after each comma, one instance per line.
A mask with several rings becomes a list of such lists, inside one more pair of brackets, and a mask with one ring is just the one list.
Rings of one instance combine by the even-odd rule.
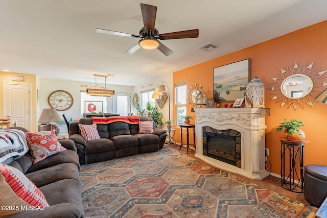
[[15, 218], [26, 217], [84, 217], [84, 211], [82, 208], [75, 204], [63, 203], [56, 204], [50, 207], [45, 207], [42, 210], [30, 210], [16, 215], [10, 216]]

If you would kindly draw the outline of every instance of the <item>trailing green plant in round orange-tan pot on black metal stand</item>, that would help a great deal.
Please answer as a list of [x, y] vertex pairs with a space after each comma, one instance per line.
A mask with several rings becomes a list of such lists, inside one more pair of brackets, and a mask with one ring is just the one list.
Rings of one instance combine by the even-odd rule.
[[283, 136], [286, 140], [289, 141], [303, 141], [306, 138], [306, 134], [299, 129], [299, 127], [304, 126], [302, 121], [296, 120], [296, 119], [291, 119], [291, 120], [286, 120], [284, 121], [276, 128], [277, 132], [283, 132]]

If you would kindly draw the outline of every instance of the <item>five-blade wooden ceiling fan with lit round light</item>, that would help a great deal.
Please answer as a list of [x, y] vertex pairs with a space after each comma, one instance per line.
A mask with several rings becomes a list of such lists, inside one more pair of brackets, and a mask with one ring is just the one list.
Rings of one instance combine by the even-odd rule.
[[168, 49], [167, 46], [162, 44], [160, 40], [199, 37], [199, 29], [159, 34], [158, 30], [154, 28], [157, 7], [141, 3], [141, 11], [142, 11], [144, 27], [139, 31], [139, 35], [122, 33], [122, 32], [111, 31], [111, 30], [104, 30], [99, 28], [97, 28], [97, 33], [105, 33], [105, 34], [118, 35], [118, 36], [128, 36], [128, 37], [141, 39], [138, 41], [136, 45], [131, 47], [131, 49], [129, 49], [127, 52], [125, 52], [124, 53], [125, 55], [131, 55], [134, 52], [136, 52], [140, 47], [143, 47], [144, 49], [147, 50], [158, 49], [160, 52], [164, 53], [164, 55], [170, 56], [174, 54], [174, 52]]

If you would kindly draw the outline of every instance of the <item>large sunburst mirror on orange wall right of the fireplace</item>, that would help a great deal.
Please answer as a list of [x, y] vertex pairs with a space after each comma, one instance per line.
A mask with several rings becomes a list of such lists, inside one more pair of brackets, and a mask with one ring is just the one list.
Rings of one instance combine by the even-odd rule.
[[281, 68], [281, 74], [276, 78], [271, 78], [275, 83], [270, 90], [276, 103], [281, 104], [281, 108], [286, 105], [287, 108], [293, 106], [294, 110], [299, 107], [305, 108], [305, 105], [313, 107], [312, 101], [327, 86], [325, 82], [327, 77], [323, 75], [327, 70], [320, 70], [320, 67], [313, 68], [313, 62], [309, 66], [294, 64], [294, 67], [287, 67], [287, 70]]

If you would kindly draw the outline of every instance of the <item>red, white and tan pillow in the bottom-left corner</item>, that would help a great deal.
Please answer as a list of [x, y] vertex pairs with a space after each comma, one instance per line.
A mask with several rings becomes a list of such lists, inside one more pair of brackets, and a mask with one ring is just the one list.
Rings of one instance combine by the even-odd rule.
[[49, 207], [42, 192], [18, 169], [6, 164], [0, 164], [0, 204], [17, 206], [17, 210], [0, 210], [0, 216], [5, 217], [24, 212], [21, 206]]

